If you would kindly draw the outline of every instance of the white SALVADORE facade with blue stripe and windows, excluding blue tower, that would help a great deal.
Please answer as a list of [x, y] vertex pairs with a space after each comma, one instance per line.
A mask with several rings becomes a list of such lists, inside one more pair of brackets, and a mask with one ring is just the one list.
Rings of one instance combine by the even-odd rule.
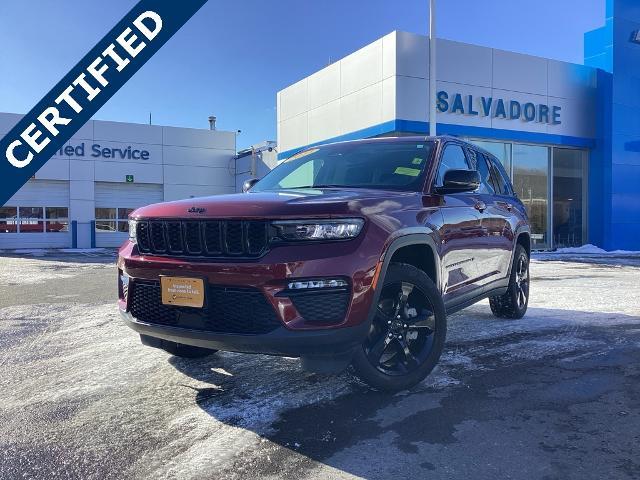
[[[437, 42], [437, 133], [476, 142], [503, 162], [529, 210], [534, 248], [589, 241], [598, 70]], [[426, 134], [429, 75], [428, 37], [396, 31], [285, 88], [279, 158], [325, 142]]]

